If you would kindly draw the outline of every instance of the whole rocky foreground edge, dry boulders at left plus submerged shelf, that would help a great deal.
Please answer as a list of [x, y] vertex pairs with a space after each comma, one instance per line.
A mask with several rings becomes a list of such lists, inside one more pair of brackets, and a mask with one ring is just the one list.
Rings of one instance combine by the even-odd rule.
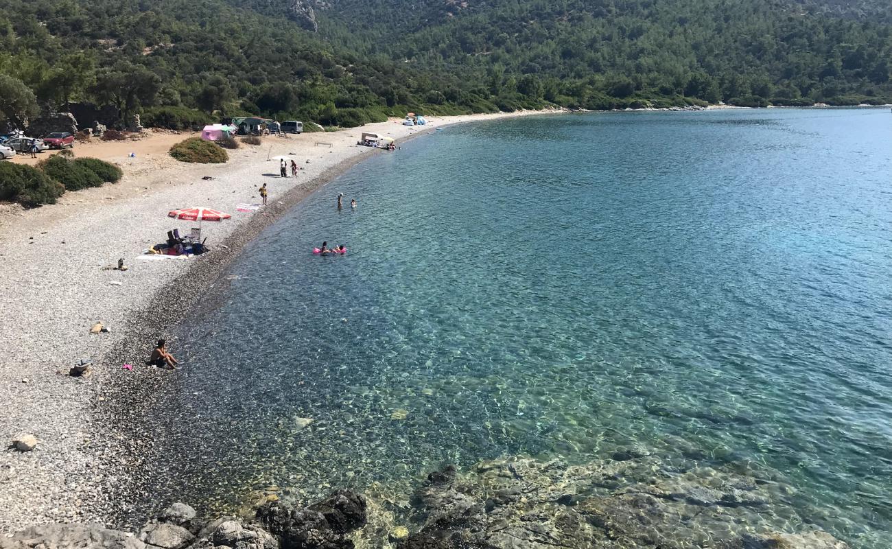
[[787, 491], [634, 453], [573, 466], [515, 457], [434, 471], [400, 512], [350, 490], [269, 501], [248, 517], [202, 519], [173, 503], [136, 533], [51, 524], [0, 549], [849, 549], [814, 527], [776, 529], [789, 524], [777, 497]]

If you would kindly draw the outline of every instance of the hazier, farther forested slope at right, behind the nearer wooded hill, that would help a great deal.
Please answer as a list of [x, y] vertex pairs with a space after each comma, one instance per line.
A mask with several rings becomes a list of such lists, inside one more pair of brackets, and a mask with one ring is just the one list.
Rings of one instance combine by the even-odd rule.
[[[516, 86], [590, 108], [681, 95], [751, 105], [887, 101], [892, 27], [877, 21], [888, 21], [892, 4], [850, 2], [837, 17], [832, 0], [809, 1], [417, 0], [397, 14], [388, 0], [337, 0], [318, 13], [332, 41], [418, 71], [469, 71], [496, 96]], [[375, 17], [382, 12], [390, 13]]]

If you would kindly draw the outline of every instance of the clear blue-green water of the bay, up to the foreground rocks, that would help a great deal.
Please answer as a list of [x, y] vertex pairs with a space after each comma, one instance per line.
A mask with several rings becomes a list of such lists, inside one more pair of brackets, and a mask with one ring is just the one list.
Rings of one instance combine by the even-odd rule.
[[[442, 462], [636, 448], [767, 471], [797, 487], [780, 526], [888, 547], [890, 128], [888, 110], [599, 113], [377, 154], [266, 230], [183, 329], [157, 490], [399, 492]], [[324, 239], [348, 255], [310, 254]]]

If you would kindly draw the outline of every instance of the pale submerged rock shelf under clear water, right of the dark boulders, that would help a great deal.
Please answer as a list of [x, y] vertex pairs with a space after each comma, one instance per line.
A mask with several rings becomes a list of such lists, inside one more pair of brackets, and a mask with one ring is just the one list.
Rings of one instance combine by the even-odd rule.
[[413, 500], [410, 519], [423, 527], [397, 547], [847, 549], [821, 531], [772, 532], [784, 520], [753, 478], [616, 457], [624, 459], [580, 466], [513, 459], [480, 463], [464, 476], [435, 471]]

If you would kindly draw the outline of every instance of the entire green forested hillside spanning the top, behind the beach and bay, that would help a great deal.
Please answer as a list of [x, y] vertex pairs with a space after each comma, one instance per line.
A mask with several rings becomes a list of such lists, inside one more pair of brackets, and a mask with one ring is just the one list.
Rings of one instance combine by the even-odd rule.
[[[0, 0], [0, 116], [892, 101], [878, 0]], [[27, 88], [27, 89], [26, 89]], [[33, 95], [32, 95], [33, 94]]]

